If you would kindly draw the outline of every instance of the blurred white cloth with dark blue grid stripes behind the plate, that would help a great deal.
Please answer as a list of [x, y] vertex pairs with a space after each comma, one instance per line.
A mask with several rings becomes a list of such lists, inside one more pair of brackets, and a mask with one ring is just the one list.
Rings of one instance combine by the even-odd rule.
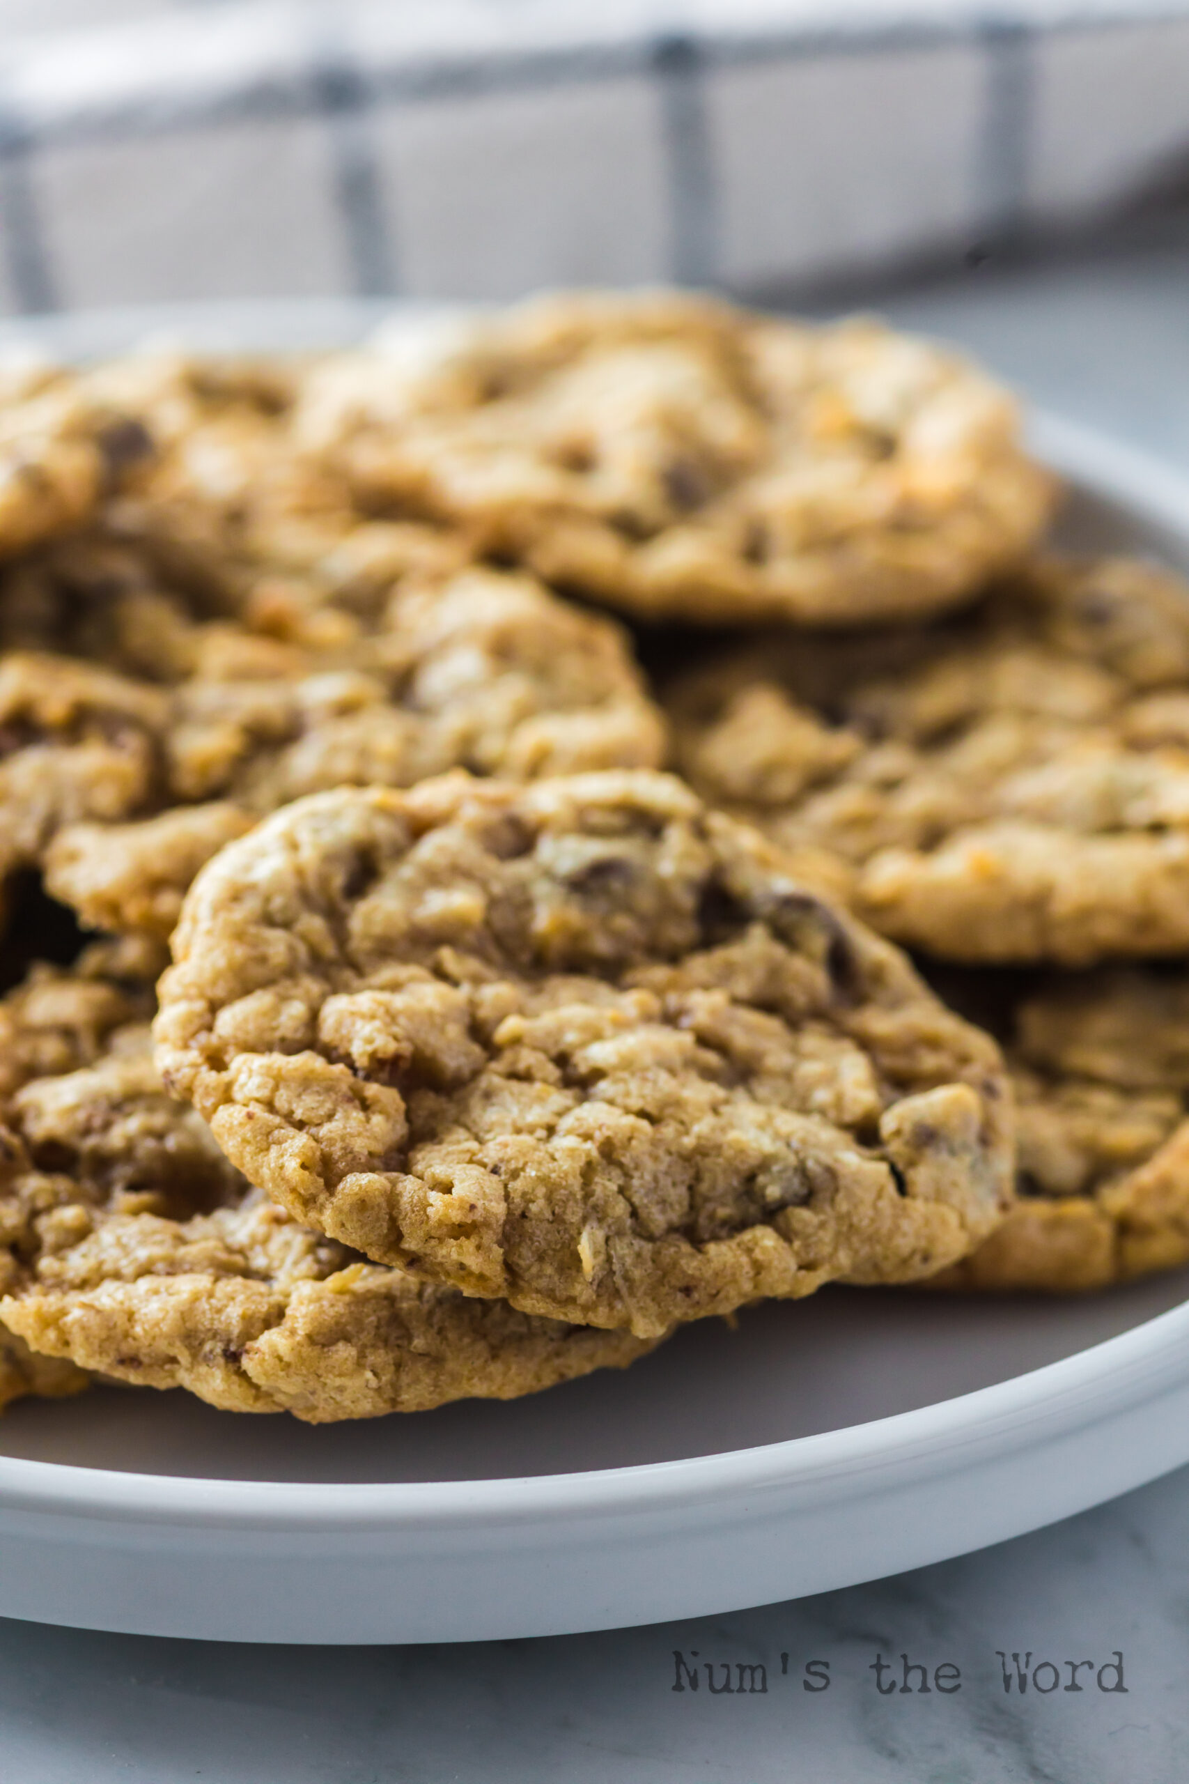
[[0, 0], [0, 310], [679, 280], [836, 305], [1189, 243], [1189, 5]]

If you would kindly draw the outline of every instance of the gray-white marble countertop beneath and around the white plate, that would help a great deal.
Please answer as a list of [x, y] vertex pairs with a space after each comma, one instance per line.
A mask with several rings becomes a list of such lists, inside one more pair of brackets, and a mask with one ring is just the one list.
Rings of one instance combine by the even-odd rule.
[[[1050, 407], [1189, 466], [1189, 255], [980, 273], [886, 309], [968, 343]], [[0, 1777], [1177, 1784], [1189, 1777], [1185, 1531], [1189, 1470], [898, 1579], [549, 1641], [258, 1648], [0, 1622]], [[1013, 1654], [1029, 1668], [1023, 1695]], [[1127, 1689], [1105, 1689], [1119, 1682], [1103, 1670], [1116, 1656]], [[891, 1670], [877, 1675], [879, 1657]], [[906, 1659], [929, 1668], [927, 1695], [900, 1689]], [[1078, 1691], [1066, 1689], [1070, 1663]], [[708, 1666], [729, 1693], [709, 1693]]]

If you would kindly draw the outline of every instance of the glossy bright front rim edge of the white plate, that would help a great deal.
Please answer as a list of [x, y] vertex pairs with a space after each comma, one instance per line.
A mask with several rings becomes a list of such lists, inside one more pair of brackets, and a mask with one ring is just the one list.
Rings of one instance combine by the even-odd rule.
[[[75, 1463], [0, 1456], [0, 1511], [53, 1511], [109, 1522], [134, 1515], [143, 1525], [184, 1522], [194, 1529], [328, 1531], [349, 1509], [360, 1534], [390, 1525], [439, 1529], [538, 1525], [542, 1518], [583, 1513], [656, 1515], [683, 1507], [709, 1511], [740, 1493], [804, 1488], [816, 1497], [827, 1483], [861, 1497], [863, 1477], [890, 1470], [913, 1479], [939, 1456], [957, 1472], [979, 1445], [1005, 1458], [1029, 1443], [1037, 1422], [1048, 1440], [1084, 1429], [1127, 1404], [1159, 1399], [1189, 1375], [1189, 1299], [1125, 1333], [1073, 1356], [1011, 1375], [1007, 1381], [886, 1418], [841, 1425], [777, 1443], [588, 1468], [567, 1474], [501, 1475], [474, 1481], [241, 1481], [87, 1468]], [[1105, 1390], [1105, 1392], [1103, 1392]]]

